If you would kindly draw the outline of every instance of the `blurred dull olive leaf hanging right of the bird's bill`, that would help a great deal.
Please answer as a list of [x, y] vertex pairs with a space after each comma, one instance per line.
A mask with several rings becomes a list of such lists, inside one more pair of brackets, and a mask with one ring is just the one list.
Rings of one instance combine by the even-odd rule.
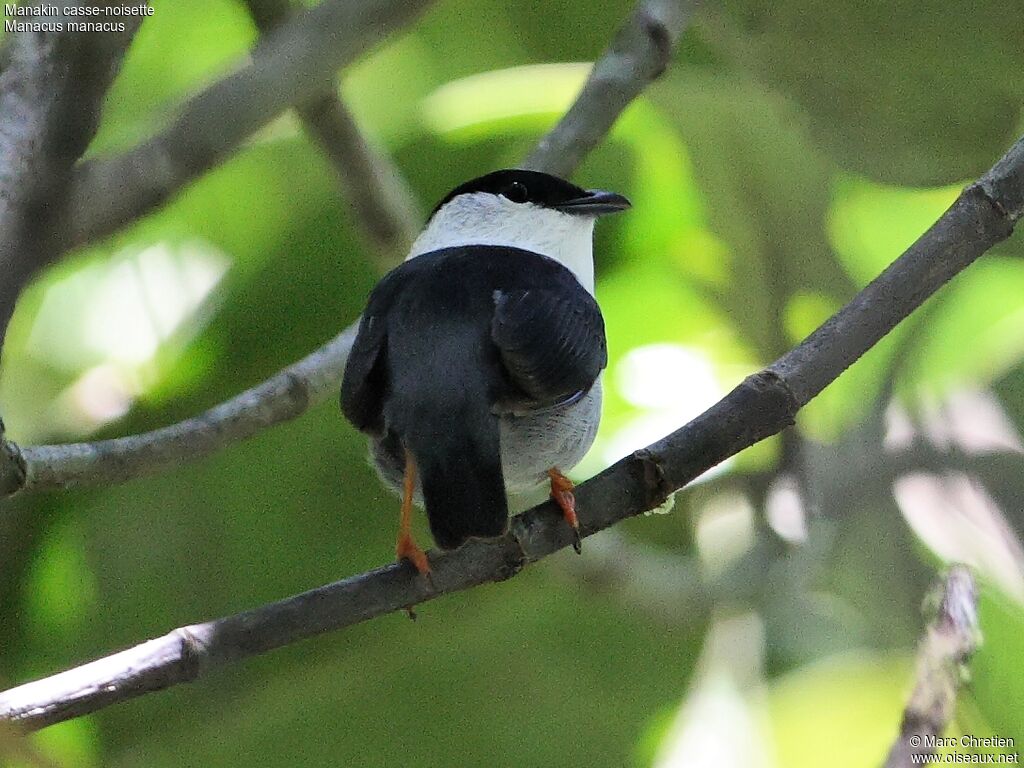
[[[788, 346], [790, 297], [838, 301], [851, 285], [824, 238], [831, 166], [792, 104], [734, 77], [672, 74], [651, 91], [693, 159], [702, 213], [729, 275], [714, 294], [768, 362]], [[684, 209], [685, 210], [685, 209]]]

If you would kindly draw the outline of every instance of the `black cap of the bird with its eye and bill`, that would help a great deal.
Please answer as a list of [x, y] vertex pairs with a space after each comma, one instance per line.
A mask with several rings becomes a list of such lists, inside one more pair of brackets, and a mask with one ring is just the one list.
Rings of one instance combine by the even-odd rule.
[[532, 203], [564, 213], [590, 216], [625, 211], [630, 207], [630, 202], [615, 193], [584, 189], [550, 173], [511, 168], [493, 171], [460, 184], [434, 207], [430, 215], [437, 213], [453, 198], [469, 193], [489, 193], [513, 203]]

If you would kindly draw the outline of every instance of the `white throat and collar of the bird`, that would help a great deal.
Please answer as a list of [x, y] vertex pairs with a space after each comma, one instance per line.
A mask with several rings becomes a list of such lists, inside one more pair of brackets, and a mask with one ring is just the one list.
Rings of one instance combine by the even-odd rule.
[[406, 260], [454, 246], [506, 246], [548, 256], [594, 293], [592, 216], [513, 203], [489, 193], [460, 195], [433, 215]]

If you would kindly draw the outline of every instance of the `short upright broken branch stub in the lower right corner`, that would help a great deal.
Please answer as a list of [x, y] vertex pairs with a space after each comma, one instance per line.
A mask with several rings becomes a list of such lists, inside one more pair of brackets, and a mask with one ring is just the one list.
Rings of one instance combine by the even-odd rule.
[[935, 738], [952, 720], [966, 665], [981, 641], [978, 596], [971, 571], [954, 565], [940, 589], [938, 611], [918, 648], [913, 693], [903, 711], [899, 736], [886, 768], [920, 765], [920, 756], [935, 754]]

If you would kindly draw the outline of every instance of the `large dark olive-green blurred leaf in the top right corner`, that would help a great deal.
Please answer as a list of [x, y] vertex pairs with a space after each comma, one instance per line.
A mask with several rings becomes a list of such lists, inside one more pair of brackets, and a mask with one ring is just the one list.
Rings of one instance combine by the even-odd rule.
[[1019, 130], [1024, 5], [731, 0], [712, 44], [798, 101], [844, 168], [898, 184], [973, 178]]

